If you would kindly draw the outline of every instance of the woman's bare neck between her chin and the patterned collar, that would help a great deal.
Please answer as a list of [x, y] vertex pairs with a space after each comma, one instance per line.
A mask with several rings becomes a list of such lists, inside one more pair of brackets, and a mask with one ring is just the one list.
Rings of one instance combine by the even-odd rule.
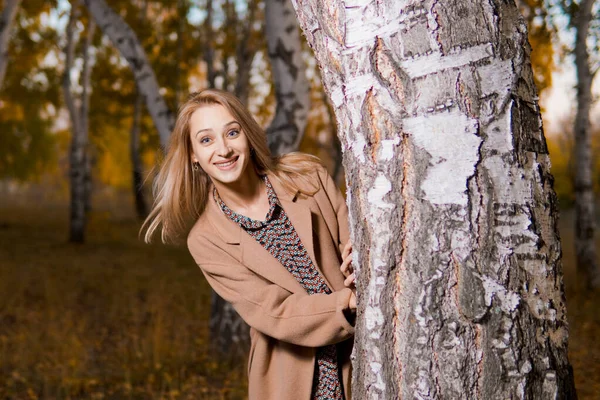
[[244, 179], [240, 179], [238, 182], [225, 184], [213, 181], [221, 200], [229, 208], [242, 214], [255, 205], [263, 203], [263, 195], [266, 196], [266, 190], [263, 188], [264, 181], [254, 171], [254, 168], [248, 172]]

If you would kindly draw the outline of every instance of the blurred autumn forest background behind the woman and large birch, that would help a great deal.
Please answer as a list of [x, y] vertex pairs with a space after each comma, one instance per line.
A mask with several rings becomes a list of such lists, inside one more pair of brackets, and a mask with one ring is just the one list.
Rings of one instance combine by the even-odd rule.
[[[314, 57], [302, 37], [293, 51], [273, 41], [269, 1], [0, 1], [0, 398], [245, 398], [246, 362], [216, 350], [210, 288], [185, 246], [146, 245], [138, 230], [165, 145], [161, 115], [168, 126], [190, 92], [217, 87], [238, 94], [272, 134], [284, 107], [276, 90], [282, 83], [274, 82], [283, 78], [272, 65], [282, 59], [306, 77], [300, 83], [310, 102], [292, 149], [321, 157], [344, 186]], [[91, 4], [110, 7], [139, 49], [115, 43]], [[517, 4], [529, 28], [561, 206], [570, 360], [580, 398], [597, 399], [600, 294], [588, 288], [574, 250], [576, 82], [555, 90], [575, 69], [581, 4]], [[600, 62], [598, 8], [587, 37], [592, 72]], [[269, 35], [283, 47], [269, 46]], [[138, 56], [141, 49], [148, 65], [138, 57], [132, 68], [123, 46]], [[150, 111], [151, 89], [140, 83], [148, 71], [162, 114]], [[594, 93], [588, 147], [597, 196]], [[82, 188], [81, 207], [72, 203], [73, 184]], [[83, 211], [74, 215], [77, 207]]]

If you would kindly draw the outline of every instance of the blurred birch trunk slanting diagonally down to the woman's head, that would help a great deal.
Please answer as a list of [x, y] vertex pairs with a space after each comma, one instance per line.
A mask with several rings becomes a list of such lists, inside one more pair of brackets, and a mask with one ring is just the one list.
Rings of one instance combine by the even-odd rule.
[[105, 0], [83, 0], [90, 15], [113, 45], [127, 60], [136, 84], [146, 100], [146, 107], [160, 136], [160, 144], [166, 148], [173, 129], [173, 114], [167, 107], [152, 66], [135, 32], [115, 13]]

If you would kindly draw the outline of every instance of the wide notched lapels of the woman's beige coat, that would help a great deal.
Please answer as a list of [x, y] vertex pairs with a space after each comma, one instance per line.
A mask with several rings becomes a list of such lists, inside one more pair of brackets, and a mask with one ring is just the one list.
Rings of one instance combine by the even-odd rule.
[[[299, 190], [293, 193], [287, 191], [272, 173], [267, 173], [267, 177], [279, 198], [279, 202], [294, 226], [294, 229], [298, 233], [302, 244], [306, 248], [313, 263], [315, 263], [312, 214], [306, 196], [300, 195]], [[228, 246], [240, 246], [241, 256], [239, 261], [246, 267], [257, 274], [264, 276], [271, 282], [286, 288], [292, 293], [305, 292], [293, 275], [285, 268], [281, 267], [279, 261], [265, 250], [260, 243], [246, 233], [244, 229], [230, 220], [222, 212], [221, 208], [212, 197], [212, 189], [209, 191], [208, 204], [205, 213], [207, 214], [207, 218], [211, 222], [215, 233], [219, 235]]]

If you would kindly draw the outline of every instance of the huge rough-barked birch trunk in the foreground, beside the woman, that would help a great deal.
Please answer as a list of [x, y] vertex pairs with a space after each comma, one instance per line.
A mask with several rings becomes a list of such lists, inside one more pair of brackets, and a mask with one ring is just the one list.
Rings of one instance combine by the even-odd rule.
[[576, 398], [556, 196], [514, 2], [294, 5], [344, 149], [354, 398]]

